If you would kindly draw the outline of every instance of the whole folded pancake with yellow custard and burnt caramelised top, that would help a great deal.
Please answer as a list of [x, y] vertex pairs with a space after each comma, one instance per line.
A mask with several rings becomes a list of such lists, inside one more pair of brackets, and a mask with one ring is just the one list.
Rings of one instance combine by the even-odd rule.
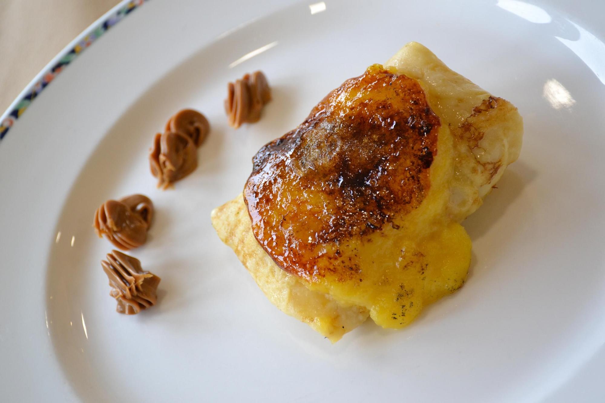
[[460, 221], [522, 134], [511, 103], [411, 42], [261, 148], [212, 224], [273, 304], [330, 340], [368, 315], [399, 329], [464, 284]]

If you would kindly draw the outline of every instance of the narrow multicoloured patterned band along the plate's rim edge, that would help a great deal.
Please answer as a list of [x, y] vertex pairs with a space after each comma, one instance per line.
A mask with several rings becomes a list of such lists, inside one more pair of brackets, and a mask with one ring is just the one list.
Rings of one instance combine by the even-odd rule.
[[15, 122], [25, 112], [31, 102], [47, 87], [48, 84], [56, 77], [64, 68], [70, 64], [83, 50], [88, 48], [94, 41], [99, 39], [102, 34], [105, 33], [109, 28], [116, 25], [118, 22], [129, 15], [137, 7], [140, 7], [149, 0], [132, 0], [124, 4], [114, 13], [111, 13], [105, 21], [100, 22], [96, 27], [90, 27], [85, 31], [85, 36], [79, 41], [73, 48], [65, 51], [65, 54], [59, 59], [59, 61], [49, 68], [43, 75], [42, 78], [33, 84], [30, 84], [29, 91], [23, 96], [19, 102], [10, 110], [10, 112], [0, 122], [0, 140], [4, 139], [4, 136], [8, 133], [8, 130], [15, 125]]

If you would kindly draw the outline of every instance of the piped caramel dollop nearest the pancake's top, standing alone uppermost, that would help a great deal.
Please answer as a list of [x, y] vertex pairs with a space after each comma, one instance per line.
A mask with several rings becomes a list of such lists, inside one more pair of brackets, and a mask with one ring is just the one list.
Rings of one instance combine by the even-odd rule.
[[245, 74], [241, 80], [227, 85], [225, 112], [229, 125], [238, 128], [242, 123], [258, 122], [263, 106], [271, 100], [267, 77], [262, 71]]

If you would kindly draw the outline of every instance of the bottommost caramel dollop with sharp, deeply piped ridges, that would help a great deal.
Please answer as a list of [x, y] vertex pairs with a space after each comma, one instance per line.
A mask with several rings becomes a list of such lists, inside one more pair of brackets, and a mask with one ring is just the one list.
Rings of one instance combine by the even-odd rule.
[[143, 271], [139, 259], [120, 251], [112, 251], [106, 259], [101, 266], [110, 280], [110, 295], [117, 301], [116, 312], [134, 315], [155, 305], [159, 277]]

